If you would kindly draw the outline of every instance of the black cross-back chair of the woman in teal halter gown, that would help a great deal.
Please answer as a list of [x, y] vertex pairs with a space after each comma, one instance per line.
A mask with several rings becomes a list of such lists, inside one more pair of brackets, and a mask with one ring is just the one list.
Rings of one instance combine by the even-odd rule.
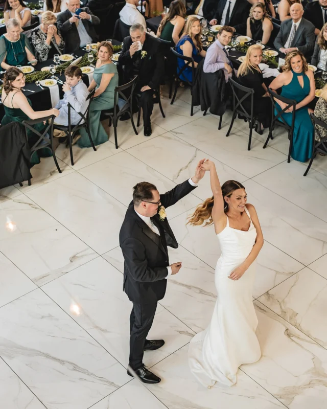
[[[289, 147], [289, 151], [288, 151], [287, 163], [290, 163], [291, 153], [292, 153], [292, 148], [293, 148], [293, 131], [294, 131], [296, 101], [285, 98], [285, 97], [282, 97], [282, 96], [274, 93], [270, 88], [268, 88], [268, 93], [269, 93], [269, 97], [271, 99], [272, 115], [271, 115], [271, 124], [270, 124], [270, 128], [269, 128], [268, 138], [267, 138], [267, 140], [266, 140], [266, 142], [265, 142], [265, 144], [263, 146], [263, 149], [265, 149], [266, 146], [268, 145], [269, 139], [273, 139], [272, 131], [274, 130], [275, 125], [278, 124], [282, 128], [286, 129], [287, 133], [288, 133], [288, 139], [290, 141], [290, 147]], [[281, 110], [281, 107], [277, 106], [277, 102], [275, 100], [284, 102], [286, 104], [286, 107]], [[293, 107], [293, 109], [292, 109], [292, 124], [289, 125], [285, 121], [285, 119], [283, 118], [283, 113], [286, 112], [291, 107]], [[275, 110], [277, 111], [276, 115], [275, 115]]]

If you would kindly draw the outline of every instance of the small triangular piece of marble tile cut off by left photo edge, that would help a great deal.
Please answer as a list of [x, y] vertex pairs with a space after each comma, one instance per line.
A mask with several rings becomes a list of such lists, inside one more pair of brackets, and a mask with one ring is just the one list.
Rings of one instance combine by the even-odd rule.
[[37, 286], [2, 253], [0, 253], [0, 271], [0, 307], [37, 288]]

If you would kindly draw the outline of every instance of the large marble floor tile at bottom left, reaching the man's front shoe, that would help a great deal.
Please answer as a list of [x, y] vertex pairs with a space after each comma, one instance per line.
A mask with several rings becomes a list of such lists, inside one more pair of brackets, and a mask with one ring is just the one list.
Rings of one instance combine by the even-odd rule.
[[87, 409], [130, 380], [41, 289], [0, 308], [0, 356], [48, 409]]

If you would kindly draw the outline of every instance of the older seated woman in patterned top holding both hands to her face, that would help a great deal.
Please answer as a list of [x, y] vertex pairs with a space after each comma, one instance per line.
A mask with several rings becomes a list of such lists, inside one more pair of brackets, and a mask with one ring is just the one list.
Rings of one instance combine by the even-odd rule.
[[41, 20], [42, 23], [31, 32], [31, 41], [36, 58], [46, 61], [55, 54], [62, 54], [65, 43], [55, 26], [57, 18], [52, 11], [45, 11]]

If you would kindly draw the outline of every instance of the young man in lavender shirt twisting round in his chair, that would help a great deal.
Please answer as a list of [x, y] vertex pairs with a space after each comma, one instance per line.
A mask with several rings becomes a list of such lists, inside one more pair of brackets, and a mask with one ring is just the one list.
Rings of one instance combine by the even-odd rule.
[[228, 58], [228, 51], [225, 46], [230, 43], [232, 37], [232, 27], [223, 26], [217, 33], [217, 40], [211, 44], [206, 52], [203, 72], [215, 73], [218, 70], [224, 70], [225, 80], [232, 76], [232, 63]]

